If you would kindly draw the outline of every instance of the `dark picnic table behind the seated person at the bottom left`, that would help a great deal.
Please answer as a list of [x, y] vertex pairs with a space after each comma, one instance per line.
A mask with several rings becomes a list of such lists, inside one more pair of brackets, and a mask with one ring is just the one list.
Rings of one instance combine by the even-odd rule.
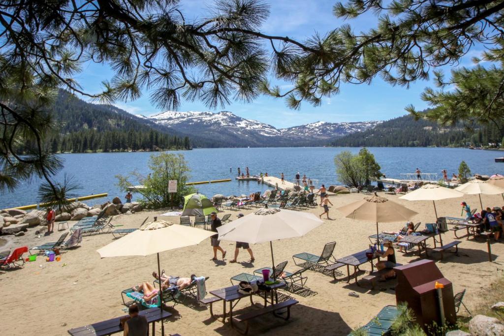
[[[148, 323], [152, 323], [152, 335], [154, 336], [156, 333], [155, 329], [156, 322], [164, 318], [170, 317], [171, 313], [161, 310], [159, 308], [149, 308], [141, 310], [140, 315], [145, 316], [147, 318]], [[109, 320], [81, 326], [79, 328], [70, 329], [68, 330], [68, 333], [70, 333], [73, 336], [91, 336], [91, 335], [101, 336], [121, 332], [123, 328], [120, 325], [120, 319], [127, 316], [129, 315], [123, 315], [120, 317], [111, 318]]]

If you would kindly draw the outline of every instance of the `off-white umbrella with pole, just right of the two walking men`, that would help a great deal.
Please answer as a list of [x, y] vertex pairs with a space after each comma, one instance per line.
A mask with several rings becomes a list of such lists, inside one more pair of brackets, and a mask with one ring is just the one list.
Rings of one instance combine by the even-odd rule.
[[273, 275], [275, 275], [272, 241], [302, 237], [323, 223], [324, 221], [313, 214], [263, 208], [217, 228], [217, 232], [219, 232], [219, 240], [242, 241], [250, 244], [269, 241]]

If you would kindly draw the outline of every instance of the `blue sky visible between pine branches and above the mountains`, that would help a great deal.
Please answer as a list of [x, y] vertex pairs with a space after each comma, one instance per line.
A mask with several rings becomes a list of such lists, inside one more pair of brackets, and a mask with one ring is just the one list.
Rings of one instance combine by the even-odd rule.
[[[303, 40], [315, 32], [325, 32], [341, 26], [344, 21], [332, 15], [335, 1], [332, 0], [266, 0], [270, 5], [271, 13], [267, 22], [261, 29], [267, 34], [289, 36]], [[211, 1], [182, 0], [180, 9], [186, 19], [192, 17], [205, 17], [207, 6]], [[374, 26], [376, 22], [372, 14], [366, 14], [356, 20], [350, 20], [355, 31], [365, 31]], [[474, 53], [473, 53], [474, 55]], [[463, 65], [470, 65], [470, 57]], [[83, 88], [91, 93], [101, 90], [101, 81], [112, 76], [112, 71], [107, 64], [85, 64], [82, 74], [76, 76]], [[273, 80], [273, 83], [277, 83]], [[288, 88], [286, 83], [278, 83]], [[338, 95], [324, 98], [319, 107], [313, 107], [303, 103], [300, 110], [291, 110], [282, 99], [261, 96], [253, 103], [245, 104], [233, 102], [229, 106], [218, 108], [213, 112], [228, 110], [244, 118], [256, 119], [272, 124], [275, 127], [290, 127], [316, 121], [365, 121], [387, 120], [404, 115], [404, 107], [413, 104], [418, 109], [426, 108], [421, 101], [420, 93], [429, 81], [419, 81], [410, 86], [393, 87], [379, 78], [371, 85], [344, 84]], [[134, 114], [151, 115], [161, 110], [152, 106], [149, 101], [149, 93], [133, 102], [116, 103], [116, 106]], [[180, 111], [208, 111], [199, 101], [183, 102]]]

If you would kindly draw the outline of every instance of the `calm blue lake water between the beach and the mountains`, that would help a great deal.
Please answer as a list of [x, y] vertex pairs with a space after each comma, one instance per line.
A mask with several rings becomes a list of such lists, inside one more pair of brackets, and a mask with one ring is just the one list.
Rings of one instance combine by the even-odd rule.
[[[357, 153], [359, 148], [222, 148], [177, 151], [188, 161], [192, 172], [190, 181], [207, 181], [232, 178], [231, 182], [202, 184], [198, 190], [213, 196], [249, 194], [262, 191], [266, 186], [257, 182], [238, 182], [234, 179], [237, 167], [242, 171], [248, 166], [250, 174], [268, 172], [269, 175], [285, 174], [287, 180], [294, 179], [296, 172], [301, 176], [318, 179], [326, 185], [338, 183], [335, 173], [334, 156], [341, 151]], [[495, 163], [494, 158], [503, 156], [498, 151], [483, 151], [452, 148], [369, 148], [376, 161], [381, 165], [387, 177], [401, 177], [402, 173], [414, 173], [418, 167], [422, 173], [438, 173], [448, 170], [448, 175], [457, 173], [462, 160], [466, 161], [473, 173], [492, 175], [504, 172], [504, 163]], [[125, 192], [115, 183], [116, 174], [127, 174], [137, 169], [141, 174], [149, 174], [147, 162], [152, 153], [94, 153], [62, 154], [65, 168], [55, 177], [62, 180], [65, 173], [75, 176], [80, 183], [80, 196], [107, 192], [111, 199], [118, 195], [123, 198]], [[229, 168], [232, 168], [230, 172]], [[37, 190], [39, 180], [23, 183], [15, 192], [0, 194], [0, 209], [19, 207], [38, 203]], [[137, 195], [134, 194], [134, 200]], [[140, 196], [140, 195], [138, 195]], [[89, 205], [103, 203], [105, 198], [87, 200]]]

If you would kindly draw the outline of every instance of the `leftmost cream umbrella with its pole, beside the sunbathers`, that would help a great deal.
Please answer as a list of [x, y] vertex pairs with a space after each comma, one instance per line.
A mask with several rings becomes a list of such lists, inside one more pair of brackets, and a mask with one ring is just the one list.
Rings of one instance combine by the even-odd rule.
[[[142, 224], [132, 233], [114, 240], [108, 245], [96, 250], [102, 258], [157, 254], [158, 274], [161, 277], [159, 253], [179, 247], [197, 245], [204, 239], [214, 235], [213, 232], [175, 225], [171, 222], [157, 220]], [[159, 291], [159, 308], [162, 310], [161, 291]], [[164, 325], [161, 320], [161, 333], [164, 335]]]

